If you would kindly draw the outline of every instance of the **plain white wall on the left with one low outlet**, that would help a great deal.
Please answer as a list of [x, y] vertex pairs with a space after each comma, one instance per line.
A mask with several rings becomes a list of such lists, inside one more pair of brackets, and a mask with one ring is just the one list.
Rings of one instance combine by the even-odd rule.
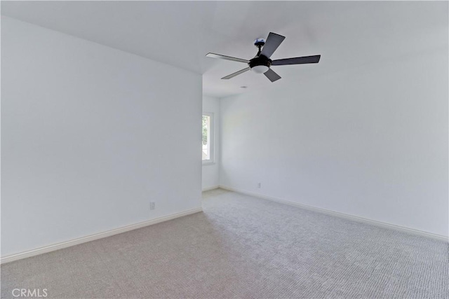
[[201, 207], [201, 75], [4, 16], [1, 46], [2, 256]]

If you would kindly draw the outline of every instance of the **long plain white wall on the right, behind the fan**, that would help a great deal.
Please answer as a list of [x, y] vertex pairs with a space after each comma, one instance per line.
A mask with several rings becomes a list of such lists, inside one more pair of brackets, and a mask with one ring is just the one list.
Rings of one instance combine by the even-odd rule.
[[221, 185], [448, 236], [447, 46], [220, 109]]

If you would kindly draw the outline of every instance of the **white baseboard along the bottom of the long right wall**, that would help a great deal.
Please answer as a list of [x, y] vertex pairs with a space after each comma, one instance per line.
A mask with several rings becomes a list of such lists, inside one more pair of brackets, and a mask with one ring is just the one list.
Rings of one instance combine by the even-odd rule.
[[448, 237], [445, 237], [443, 235], [436, 235], [436, 234], [433, 234], [431, 232], [424, 232], [422, 230], [415, 230], [413, 228], [406, 228], [406, 227], [403, 227], [403, 226], [400, 226], [400, 225], [394, 225], [394, 224], [385, 223], [385, 222], [381, 222], [381, 221], [375, 221], [375, 220], [368, 219], [368, 218], [363, 218], [363, 217], [353, 216], [353, 215], [349, 215], [349, 214], [339, 213], [337, 211], [330, 211], [328, 209], [321, 209], [321, 208], [317, 208], [317, 207], [312, 207], [312, 206], [309, 206], [307, 204], [298, 204], [297, 202], [290, 202], [289, 200], [281, 200], [280, 198], [271, 197], [271, 196], [267, 196], [267, 195], [262, 195], [262, 194], [259, 194], [259, 193], [248, 192], [246, 190], [236, 189], [236, 188], [232, 188], [232, 187], [228, 187], [228, 186], [220, 185], [220, 188], [225, 189], [225, 190], [229, 190], [229, 191], [233, 191], [233, 192], [236, 192], [236, 193], [241, 193], [241, 194], [245, 194], [245, 195], [259, 197], [259, 198], [262, 198], [264, 200], [272, 200], [274, 202], [280, 202], [282, 204], [288, 204], [288, 205], [293, 206], [293, 207], [300, 207], [302, 209], [309, 209], [311, 211], [318, 211], [320, 213], [330, 214], [330, 215], [333, 215], [333, 216], [346, 218], [346, 219], [349, 219], [349, 220], [352, 220], [352, 221], [369, 223], [369, 224], [372, 224], [372, 225], [381, 226], [382, 228], [389, 228], [389, 229], [399, 230], [401, 232], [408, 232], [408, 233], [413, 234], [413, 235], [420, 235], [420, 236], [423, 236], [423, 237], [430, 237], [432, 239], [438, 239], [440, 241], [449, 242]]

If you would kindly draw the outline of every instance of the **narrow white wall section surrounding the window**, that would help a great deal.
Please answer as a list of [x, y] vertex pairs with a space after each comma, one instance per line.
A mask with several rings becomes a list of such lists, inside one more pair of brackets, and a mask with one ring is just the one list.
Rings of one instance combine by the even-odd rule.
[[214, 118], [214, 163], [203, 165], [203, 190], [216, 188], [220, 170], [220, 99], [203, 96], [203, 112], [213, 113]]

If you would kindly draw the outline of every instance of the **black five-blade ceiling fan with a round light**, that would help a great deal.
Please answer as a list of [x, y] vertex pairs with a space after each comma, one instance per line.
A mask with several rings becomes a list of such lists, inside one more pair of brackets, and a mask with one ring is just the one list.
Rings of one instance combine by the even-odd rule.
[[269, 59], [269, 57], [273, 55], [274, 51], [279, 47], [279, 45], [281, 45], [284, 39], [286, 39], [286, 36], [281, 36], [273, 32], [269, 33], [267, 41], [265, 41], [264, 39], [256, 39], [254, 41], [254, 46], [259, 48], [259, 50], [257, 51], [257, 55], [255, 55], [255, 57], [252, 60], [244, 60], [241, 58], [230, 57], [215, 53], [208, 53], [206, 54], [206, 57], [218, 58], [222, 60], [232, 60], [248, 64], [248, 67], [246, 67], [245, 69], [236, 71], [234, 74], [225, 76], [222, 79], [234, 78], [237, 75], [243, 74], [244, 72], [251, 70], [257, 74], [263, 73], [272, 82], [279, 80], [281, 78], [281, 76], [276, 74], [275, 71], [270, 69], [272, 65], [307, 64], [307, 63], [318, 63], [320, 61], [321, 55], [293, 57], [281, 60]]

